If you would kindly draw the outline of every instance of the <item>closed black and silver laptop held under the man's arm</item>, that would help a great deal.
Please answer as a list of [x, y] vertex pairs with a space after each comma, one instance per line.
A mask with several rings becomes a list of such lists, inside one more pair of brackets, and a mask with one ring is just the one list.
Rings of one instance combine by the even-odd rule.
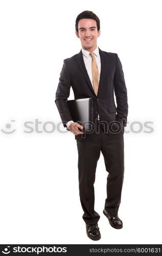
[[74, 122], [81, 124], [84, 129], [80, 131], [92, 131], [93, 105], [92, 98], [67, 100], [68, 108]]

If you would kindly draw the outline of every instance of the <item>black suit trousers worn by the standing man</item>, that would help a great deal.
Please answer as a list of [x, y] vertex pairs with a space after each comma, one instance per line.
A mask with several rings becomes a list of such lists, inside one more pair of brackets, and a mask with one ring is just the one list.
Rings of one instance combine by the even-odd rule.
[[112, 215], [118, 213], [124, 178], [123, 131], [108, 136], [99, 122], [97, 125], [99, 133], [95, 133], [92, 141], [77, 140], [79, 196], [84, 211], [83, 220], [86, 224], [96, 224], [100, 219], [100, 215], [94, 209], [94, 183], [101, 152], [108, 172], [105, 209]]

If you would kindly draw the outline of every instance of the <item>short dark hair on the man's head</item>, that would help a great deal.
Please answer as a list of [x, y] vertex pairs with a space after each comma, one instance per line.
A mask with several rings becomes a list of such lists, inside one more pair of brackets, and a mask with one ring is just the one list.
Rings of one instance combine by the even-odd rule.
[[97, 30], [98, 31], [100, 30], [100, 19], [98, 18], [98, 16], [95, 13], [91, 12], [91, 11], [84, 11], [84, 12], [81, 12], [76, 18], [75, 29], [76, 29], [77, 32], [78, 32], [78, 22], [82, 18], [95, 19], [96, 23], [97, 23]]

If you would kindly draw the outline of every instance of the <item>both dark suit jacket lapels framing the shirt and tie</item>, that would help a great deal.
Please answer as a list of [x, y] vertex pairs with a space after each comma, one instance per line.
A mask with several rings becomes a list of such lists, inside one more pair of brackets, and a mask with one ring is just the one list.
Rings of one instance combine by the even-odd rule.
[[[100, 88], [101, 87], [101, 82], [102, 82], [104, 74], [105, 74], [104, 67], [106, 67], [106, 66], [104, 65], [104, 56], [103, 56], [103, 53], [100, 50], [100, 48], [99, 48], [99, 53], [100, 53], [100, 59], [101, 59], [101, 73], [100, 73], [99, 90], [101, 90], [101, 88]], [[76, 60], [78, 62], [79, 68], [80, 68], [83, 76], [85, 77], [85, 79], [88, 83], [88, 86], [90, 87], [92, 93], [94, 93], [94, 95], [96, 96], [94, 88], [92, 87], [91, 81], [89, 79], [88, 72], [87, 72], [86, 67], [85, 67], [82, 50], [78, 53], [78, 56], [76, 57]], [[99, 95], [99, 90], [98, 90], [98, 95]]]

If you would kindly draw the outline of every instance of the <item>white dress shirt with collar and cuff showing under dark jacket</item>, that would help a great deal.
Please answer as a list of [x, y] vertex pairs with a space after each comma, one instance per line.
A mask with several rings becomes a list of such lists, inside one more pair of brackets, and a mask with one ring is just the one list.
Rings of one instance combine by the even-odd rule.
[[[82, 54], [83, 54], [83, 60], [84, 60], [84, 63], [85, 63], [85, 68], [87, 70], [87, 73], [88, 73], [88, 76], [89, 76], [89, 79], [91, 81], [91, 84], [92, 84], [92, 87], [94, 88], [94, 84], [93, 84], [93, 79], [92, 79], [92, 71], [91, 71], [91, 61], [92, 61], [92, 58], [91, 56], [89, 55], [90, 52], [82, 49]], [[100, 82], [100, 73], [101, 73], [101, 59], [100, 59], [100, 54], [99, 54], [99, 48], [97, 47], [94, 51], [94, 54], [95, 54], [95, 59], [96, 59], [96, 63], [97, 63], [97, 66], [98, 66], [98, 69], [99, 69], [99, 79], [98, 81]], [[99, 118], [99, 115], [98, 115], [98, 118]], [[66, 126], [68, 128], [68, 126], [73, 123], [73, 121], [68, 121], [66, 123]]]

